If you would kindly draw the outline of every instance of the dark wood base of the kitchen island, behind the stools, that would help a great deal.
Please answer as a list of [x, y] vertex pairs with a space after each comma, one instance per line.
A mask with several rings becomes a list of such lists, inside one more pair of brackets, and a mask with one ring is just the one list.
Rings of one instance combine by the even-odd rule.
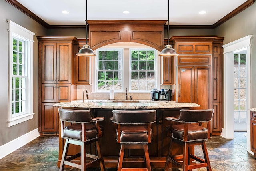
[[[49, 107], [50, 108], [50, 107]], [[170, 125], [169, 121], [165, 120], [165, 117], [172, 116], [178, 117], [181, 108], [173, 109], [156, 109], [156, 123], [152, 125], [152, 141], [148, 144], [148, 151], [150, 156], [150, 163], [152, 167], [164, 167], [166, 160], [166, 155], [170, 143], [170, 137], [166, 135], [166, 126]], [[192, 109], [192, 108], [182, 108], [182, 109]], [[54, 109], [53, 109], [54, 110]], [[118, 157], [120, 152], [120, 144], [117, 143], [114, 133], [115, 126], [114, 123], [110, 120], [112, 117], [113, 109], [90, 109], [93, 117], [104, 117], [104, 121], [100, 121], [100, 125], [104, 126], [104, 135], [100, 138], [100, 144], [102, 153], [104, 156], [104, 162], [106, 167], [116, 167], [118, 163]], [[65, 140], [60, 137], [59, 133], [59, 160], [58, 166], [60, 165], [63, 148]], [[75, 154], [79, 152], [79, 146], [72, 145], [68, 151], [68, 155]], [[96, 153], [95, 145], [86, 146], [86, 151], [90, 153]], [[175, 147], [176, 153], [182, 153], [182, 147]], [[136, 158], [135, 158], [136, 157]], [[138, 158], [142, 157], [142, 158]], [[135, 164], [143, 165], [144, 164], [144, 151], [142, 149], [129, 149], [125, 152], [125, 160], [132, 161]], [[129, 158], [129, 159], [127, 159]], [[132, 162], [127, 162], [127, 165], [132, 164]]]

